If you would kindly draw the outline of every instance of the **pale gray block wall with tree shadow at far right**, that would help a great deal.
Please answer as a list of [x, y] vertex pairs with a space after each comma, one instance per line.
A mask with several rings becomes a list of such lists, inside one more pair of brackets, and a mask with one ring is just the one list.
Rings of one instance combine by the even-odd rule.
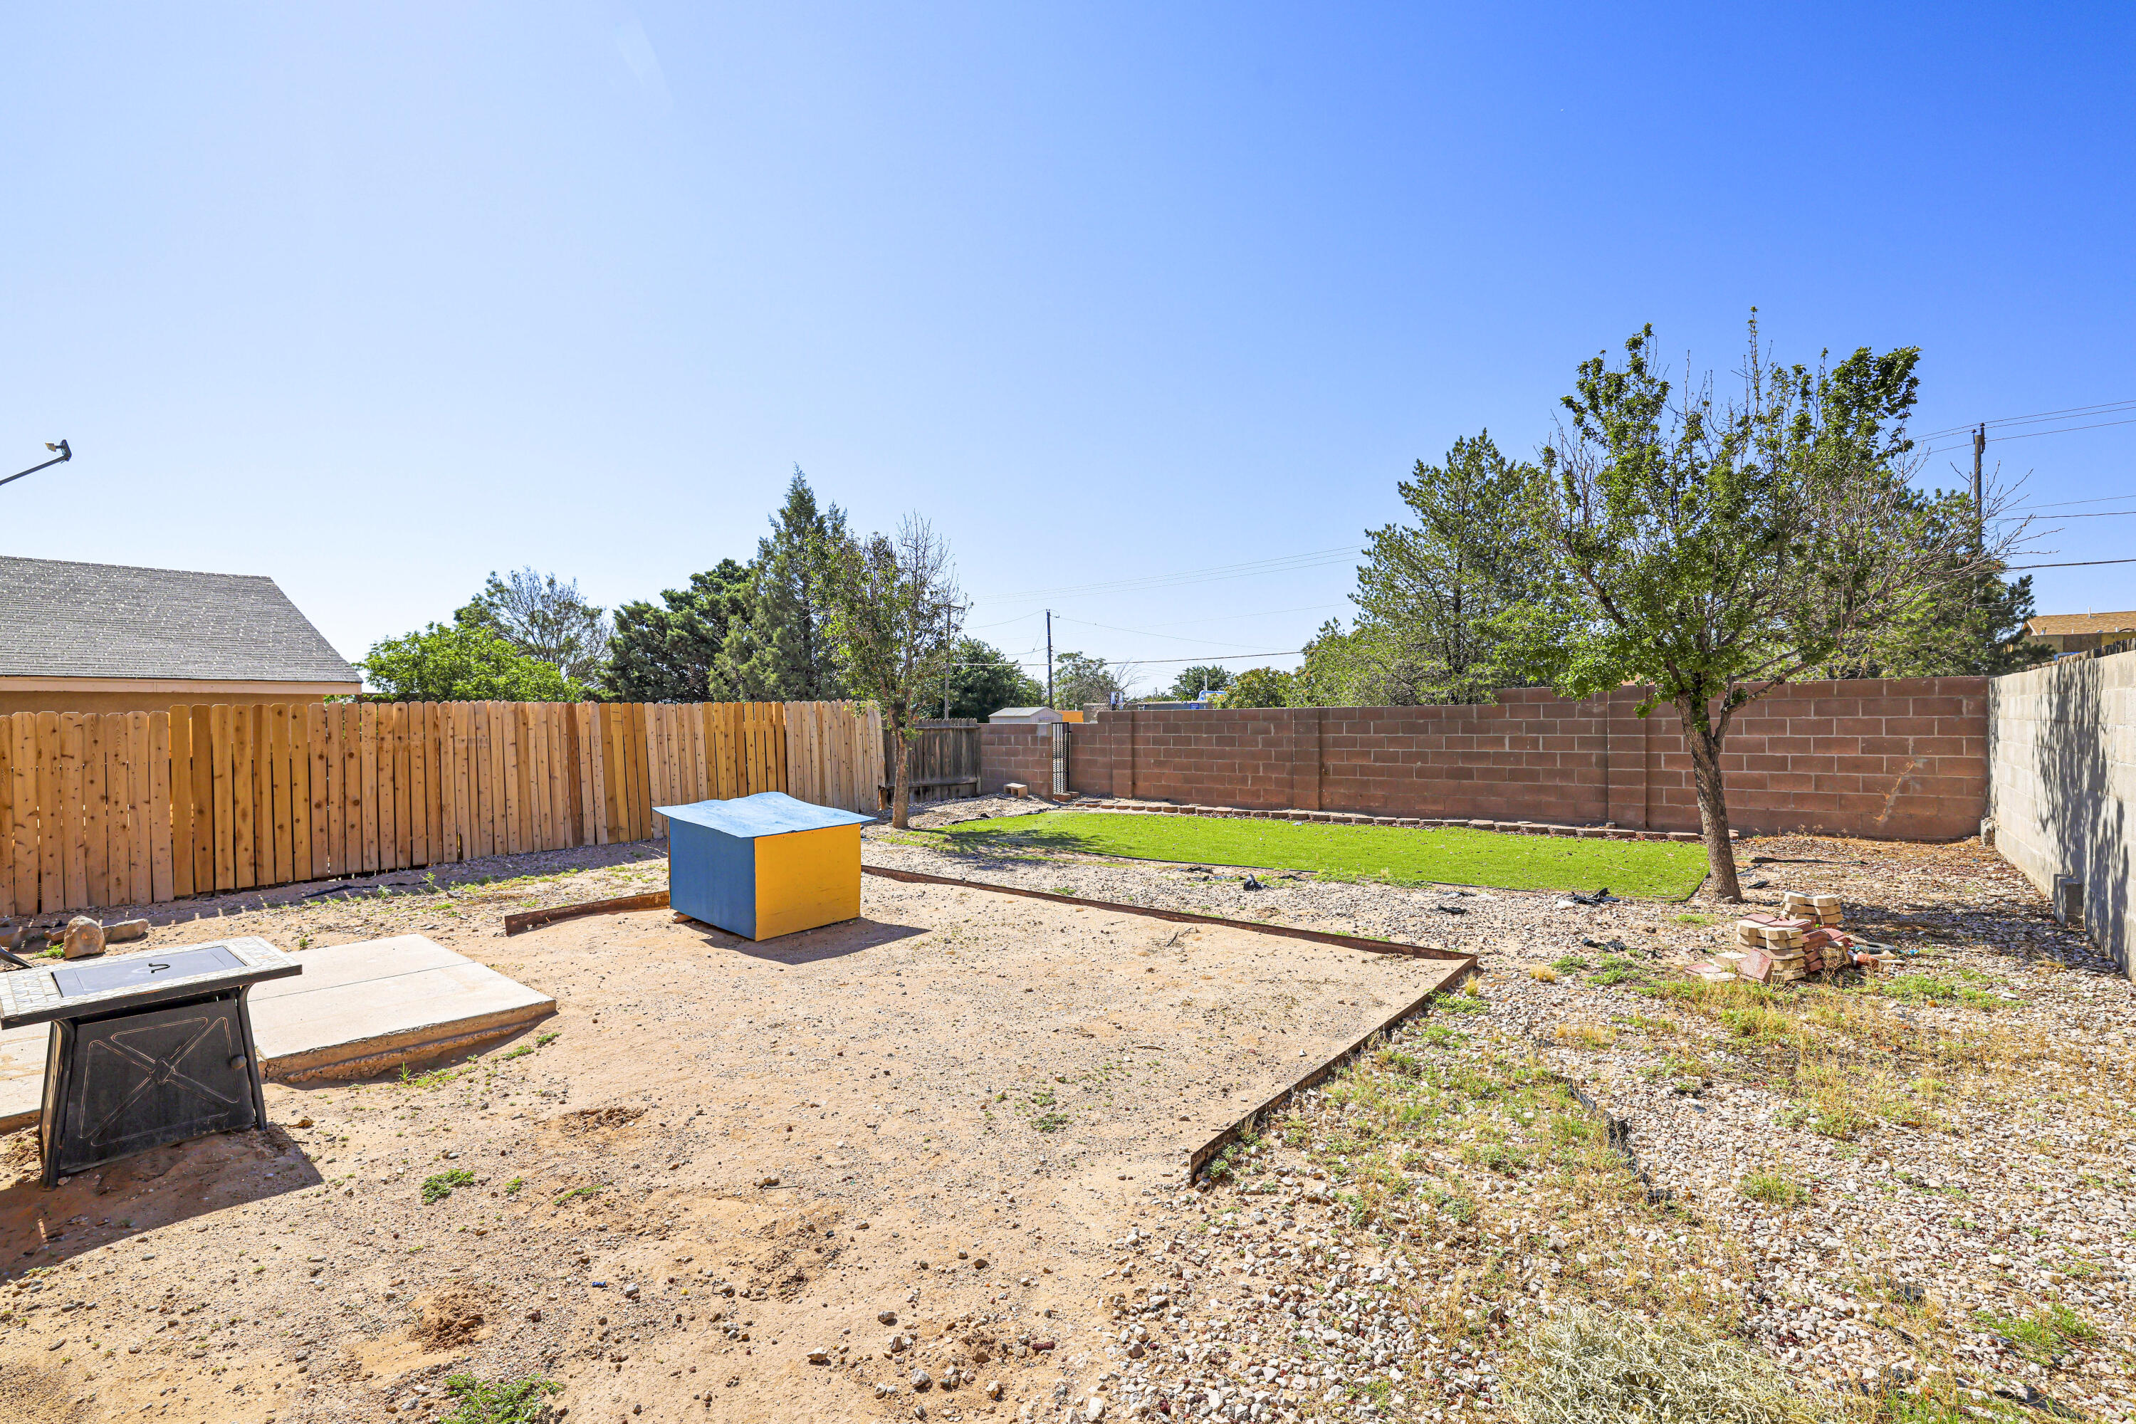
[[2085, 935], [2132, 971], [2136, 653], [2066, 658], [1989, 683], [1995, 850], [2053, 895], [2080, 880]]

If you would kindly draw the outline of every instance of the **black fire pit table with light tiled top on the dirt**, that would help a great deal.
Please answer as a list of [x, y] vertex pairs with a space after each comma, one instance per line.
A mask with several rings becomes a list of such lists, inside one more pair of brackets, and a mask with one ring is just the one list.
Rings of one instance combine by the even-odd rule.
[[45, 1185], [164, 1142], [265, 1125], [246, 995], [290, 974], [303, 965], [254, 937], [0, 974], [0, 1029], [51, 1025]]

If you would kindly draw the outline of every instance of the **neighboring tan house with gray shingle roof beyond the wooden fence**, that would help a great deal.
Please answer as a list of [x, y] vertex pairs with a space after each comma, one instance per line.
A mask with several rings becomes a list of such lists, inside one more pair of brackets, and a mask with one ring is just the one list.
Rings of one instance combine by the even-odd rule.
[[0, 713], [357, 692], [363, 677], [273, 579], [0, 557]]

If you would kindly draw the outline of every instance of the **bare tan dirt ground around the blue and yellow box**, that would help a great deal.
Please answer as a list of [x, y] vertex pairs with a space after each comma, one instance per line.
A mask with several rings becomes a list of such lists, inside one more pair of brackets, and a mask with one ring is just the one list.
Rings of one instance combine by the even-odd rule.
[[455, 1373], [555, 1379], [572, 1422], [1017, 1418], [1104, 1368], [1185, 1153], [1446, 974], [876, 877], [763, 946], [669, 912], [502, 937], [656, 856], [160, 907], [156, 948], [427, 933], [560, 1012], [49, 1193], [0, 1142], [0, 1420], [438, 1418]]

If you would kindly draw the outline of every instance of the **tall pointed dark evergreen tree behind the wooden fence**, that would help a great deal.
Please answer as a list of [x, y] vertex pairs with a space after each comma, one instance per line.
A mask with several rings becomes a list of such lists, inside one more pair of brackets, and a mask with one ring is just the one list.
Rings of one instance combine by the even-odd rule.
[[816, 504], [801, 465], [771, 536], [756, 540], [743, 615], [728, 628], [713, 668], [716, 698], [737, 702], [822, 702], [844, 696], [837, 651], [824, 636], [824, 564], [846, 540], [846, 510]]

